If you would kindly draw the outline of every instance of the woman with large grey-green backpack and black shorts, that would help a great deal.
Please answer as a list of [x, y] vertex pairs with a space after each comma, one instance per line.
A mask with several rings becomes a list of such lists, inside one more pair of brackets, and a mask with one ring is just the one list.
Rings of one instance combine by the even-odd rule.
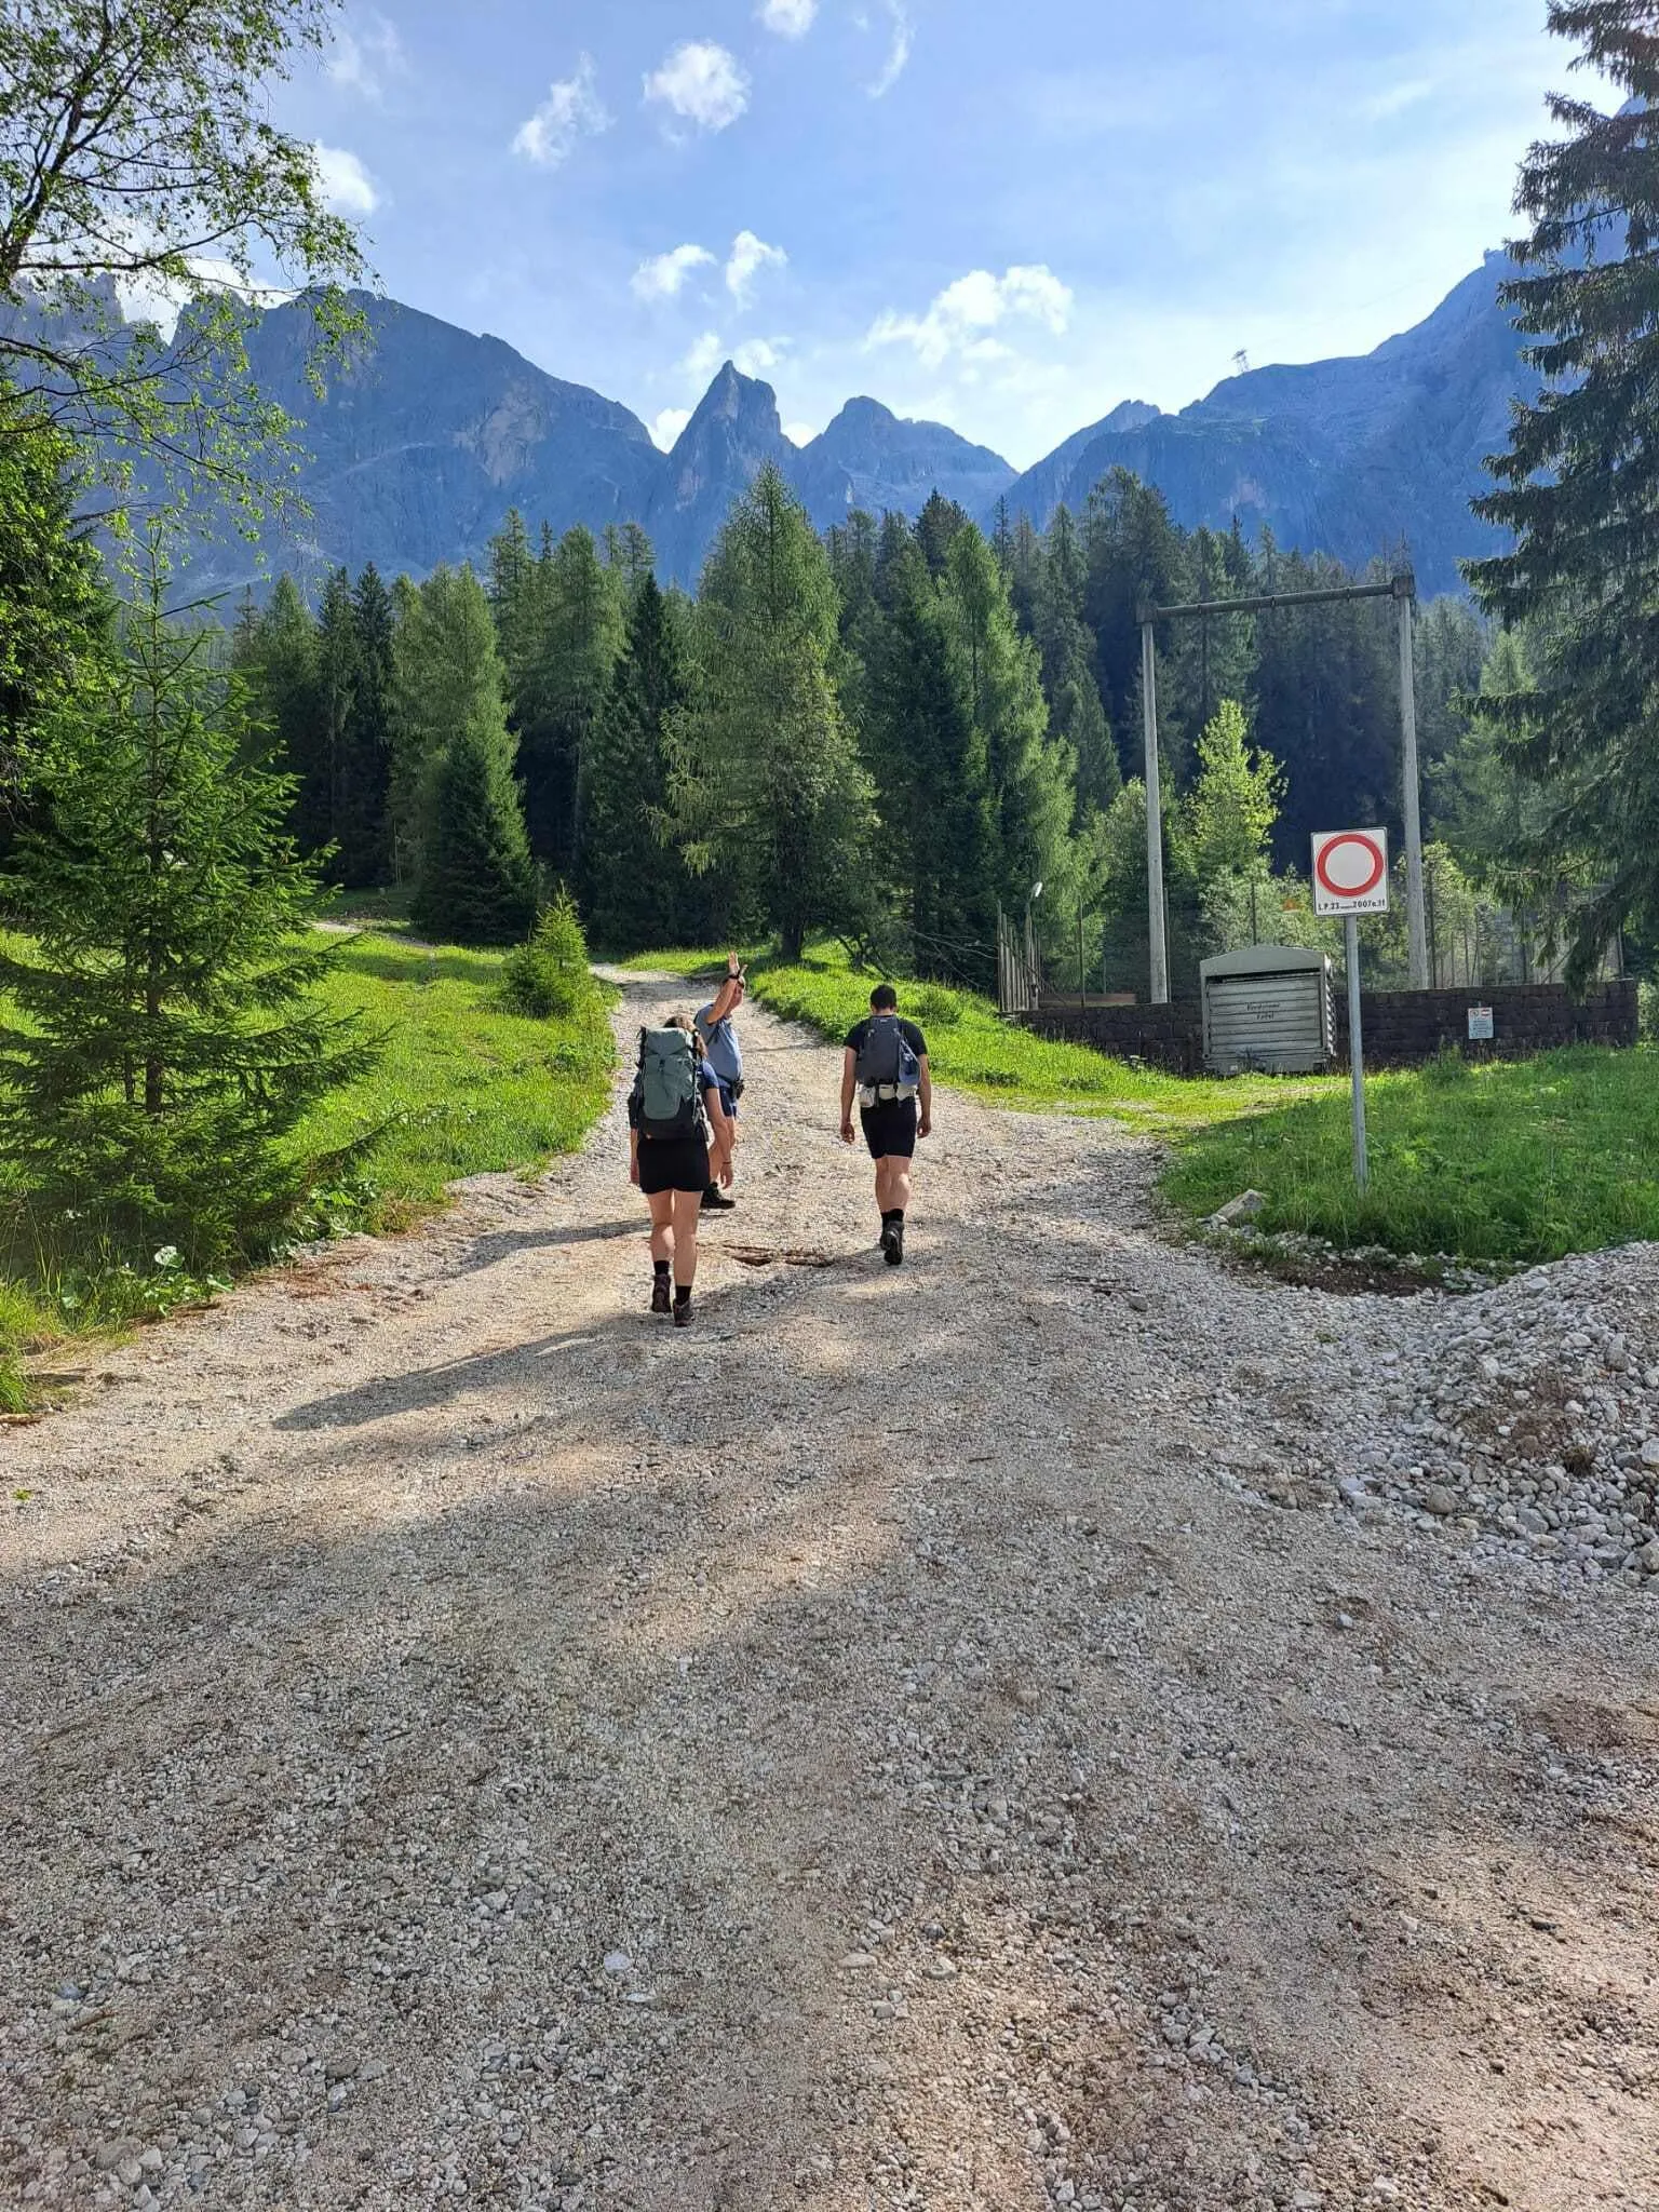
[[697, 1281], [697, 1217], [710, 1179], [732, 1181], [732, 1124], [719, 1077], [703, 1060], [688, 1013], [639, 1031], [639, 1066], [628, 1093], [628, 1179], [650, 1206], [650, 1312], [690, 1327]]

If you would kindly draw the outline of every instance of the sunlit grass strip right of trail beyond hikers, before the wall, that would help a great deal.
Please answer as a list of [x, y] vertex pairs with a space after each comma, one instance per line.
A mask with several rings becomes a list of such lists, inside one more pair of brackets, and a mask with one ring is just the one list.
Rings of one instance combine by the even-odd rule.
[[[719, 958], [708, 951], [641, 953], [628, 967], [690, 978], [719, 969]], [[852, 1024], [869, 1013], [874, 980], [856, 971], [841, 947], [814, 947], [796, 964], [768, 960], [750, 964], [754, 995], [772, 1013], [805, 1022], [832, 1044], [841, 1044]], [[927, 1033], [938, 1079], [1002, 1106], [1064, 1106], [1068, 1113], [1115, 1115], [1137, 1128], [1164, 1133], [1190, 1128], [1194, 1121], [1259, 1113], [1287, 1097], [1329, 1088], [1325, 1079], [1283, 1082], [1265, 1075], [1230, 1084], [1188, 1082], [1161, 1075], [1157, 1068], [1106, 1060], [1086, 1044], [1033, 1037], [1031, 1031], [1004, 1022], [991, 1000], [973, 991], [902, 978], [894, 982], [900, 1011]]]

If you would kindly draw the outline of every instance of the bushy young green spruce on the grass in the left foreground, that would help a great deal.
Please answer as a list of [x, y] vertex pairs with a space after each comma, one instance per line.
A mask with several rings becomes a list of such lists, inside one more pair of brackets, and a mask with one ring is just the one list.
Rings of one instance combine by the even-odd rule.
[[241, 677], [164, 617], [153, 555], [119, 646], [44, 726], [49, 814], [7, 883], [29, 951], [0, 958], [0, 1155], [44, 1219], [148, 1263], [259, 1252], [314, 1166], [292, 1130], [369, 1062], [314, 998], [316, 872], [292, 779], [237, 757]]

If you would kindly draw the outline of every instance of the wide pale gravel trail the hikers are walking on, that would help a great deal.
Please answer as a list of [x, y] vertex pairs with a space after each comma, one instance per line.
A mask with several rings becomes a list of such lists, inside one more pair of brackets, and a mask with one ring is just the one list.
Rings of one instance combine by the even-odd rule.
[[891, 1272], [745, 1042], [690, 1334], [613, 1106], [0, 1436], [0, 2205], [1659, 2208], [1652, 1597], [1325, 1480], [1433, 1310], [956, 1097]]

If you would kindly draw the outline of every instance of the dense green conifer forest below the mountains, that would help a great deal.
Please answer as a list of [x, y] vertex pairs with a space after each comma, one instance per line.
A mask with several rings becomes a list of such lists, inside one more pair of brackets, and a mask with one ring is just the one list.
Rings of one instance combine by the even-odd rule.
[[[1137, 602], [1343, 582], [1321, 555], [1183, 531], [1117, 471], [1046, 531], [987, 538], [933, 495], [818, 540], [765, 471], [695, 597], [637, 526], [553, 540], [511, 513], [484, 575], [292, 577], [230, 644], [294, 836], [345, 887], [411, 887], [418, 927], [504, 942], [568, 889], [606, 951], [834, 931], [982, 984], [998, 905], [1057, 975], [1146, 987]], [[1416, 628], [1436, 956], [1517, 958], [1493, 867], [1513, 776], [1471, 721], [1513, 664], [1455, 597]], [[1400, 816], [1387, 606], [1170, 626], [1159, 639], [1177, 987], [1252, 936], [1316, 933], [1310, 834]], [[1082, 951], [1079, 951], [1082, 947]], [[1385, 960], [1398, 947], [1380, 933]]]

